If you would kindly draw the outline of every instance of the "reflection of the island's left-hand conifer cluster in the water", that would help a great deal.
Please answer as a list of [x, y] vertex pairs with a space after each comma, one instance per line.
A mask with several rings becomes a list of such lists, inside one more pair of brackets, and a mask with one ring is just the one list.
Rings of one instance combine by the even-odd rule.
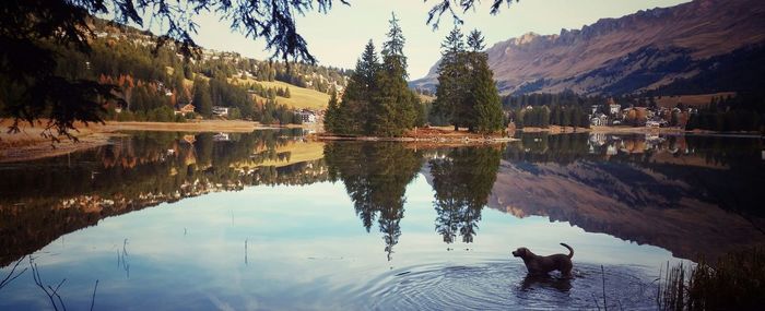
[[332, 143], [325, 146], [330, 178], [342, 180], [367, 232], [377, 218], [388, 260], [401, 236], [404, 192], [422, 156], [398, 143]]

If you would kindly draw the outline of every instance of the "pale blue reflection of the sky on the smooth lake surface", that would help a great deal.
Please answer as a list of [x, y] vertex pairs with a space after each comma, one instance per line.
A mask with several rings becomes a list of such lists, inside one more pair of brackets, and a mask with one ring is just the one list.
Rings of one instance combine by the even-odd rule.
[[[342, 182], [251, 187], [162, 204], [66, 235], [35, 256], [46, 284], [67, 278], [60, 294], [69, 310], [90, 308], [95, 279], [96, 310], [357, 309], [364, 295], [385, 289], [376, 288], [387, 286], [381, 279], [423, 265], [522, 268], [509, 253], [520, 246], [549, 254], [565, 252], [558, 243], [567, 242], [575, 268], [637, 265], [650, 275], [672, 259], [656, 247], [491, 208], [473, 243], [445, 244], [434, 229], [433, 194], [423, 176], [409, 184], [391, 262], [376, 222], [367, 234]], [[28, 272], [0, 290], [0, 310], [49, 303]]]

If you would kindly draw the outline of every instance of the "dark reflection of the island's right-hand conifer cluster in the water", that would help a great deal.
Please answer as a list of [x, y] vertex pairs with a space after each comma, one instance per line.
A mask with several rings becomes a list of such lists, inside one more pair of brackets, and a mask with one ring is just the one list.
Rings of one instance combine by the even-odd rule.
[[467, 147], [429, 160], [436, 191], [434, 207], [438, 214], [436, 231], [444, 242], [454, 242], [458, 231], [462, 242], [473, 241], [501, 158], [501, 148]]

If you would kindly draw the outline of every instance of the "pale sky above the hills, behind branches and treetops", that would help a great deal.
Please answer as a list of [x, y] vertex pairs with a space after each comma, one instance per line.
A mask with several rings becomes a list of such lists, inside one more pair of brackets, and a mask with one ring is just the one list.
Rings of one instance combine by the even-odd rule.
[[[308, 43], [309, 51], [320, 64], [352, 69], [364, 45], [373, 39], [379, 51], [388, 20], [396, 12], [403, 29], [411, 80], [427, 74], [439, 58], [440, 43], [451, 29], [450, 16], [443, 16], [439, 28], [425, 24], [427, 11], [438, 0], [349, 0], [351, 7], [334, 1], [328, 14], [308, 12], [297, 19], [297, 31]], [[521, 0], [503, 7], [497, 15], [489, 13], [491, 0], [484, 0], [476, 10], [463, 14], [463, 32], [476, 28], [483, 32], [487, 47], [522, 34], [557, 34], [562, 28], [581, 28], [602, 17], [620, 17], [639, 10], [666, 8], [687, 0]], [[199, 32], [193, 36], [204, 48], [236, 51], [246, 57], [267, 59], [262, 39], [255, 41], [232, 32], [229, 23], [213, 13], [195, 17]]]

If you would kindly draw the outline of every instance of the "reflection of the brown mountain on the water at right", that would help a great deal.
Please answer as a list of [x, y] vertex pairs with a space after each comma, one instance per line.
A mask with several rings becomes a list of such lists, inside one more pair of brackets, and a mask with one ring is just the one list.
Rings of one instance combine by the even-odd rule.
[[[609, 144], [645, 144], [634, 140], [615, 137], [603, 149]], [[550, 156], [558, 152], [555, 146], [537, 155], [522, 145], [510, 146], [489, 205], [518, 217], [548, 216], [587, 231], [662, 247], [686, 259], [765, 242], [755, 225], [763, 213], [758, 201], [744, 194], [756, 193], [765, 180], [755, 156], [760, 142], [716, 149], [710, 147], [715, 141], [722, 140], [688, 137], [681, 145], [690, 146], [678, 148], [675, 137], [671, 144], [668, 140], [642, 147], [639, 155], [622, 148], [610, 155], [588, 152], [575, 160], [564, 156], [564, 162]], [[565, 148], [570, 149], [576, 148]], [[685, 159], [693, 165], [679, 165]]]

